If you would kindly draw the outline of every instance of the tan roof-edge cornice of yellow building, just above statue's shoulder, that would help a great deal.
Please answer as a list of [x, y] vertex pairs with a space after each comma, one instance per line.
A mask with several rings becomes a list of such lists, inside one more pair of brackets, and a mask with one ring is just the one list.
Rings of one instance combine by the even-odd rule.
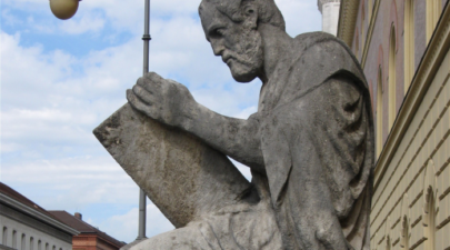
[[342, 0], [339, 9], [338, 38], [349, 47], [353, 40], [360, 0]]

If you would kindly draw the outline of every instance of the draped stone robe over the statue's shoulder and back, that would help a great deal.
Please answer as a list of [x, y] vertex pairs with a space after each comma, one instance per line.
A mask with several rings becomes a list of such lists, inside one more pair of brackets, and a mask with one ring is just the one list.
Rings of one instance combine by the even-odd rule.
[[261, 150], [284, 248], [369, 249], [374, 152], [363, 72], [332, 36], [296, 42], [290, 67], [260, 99]]

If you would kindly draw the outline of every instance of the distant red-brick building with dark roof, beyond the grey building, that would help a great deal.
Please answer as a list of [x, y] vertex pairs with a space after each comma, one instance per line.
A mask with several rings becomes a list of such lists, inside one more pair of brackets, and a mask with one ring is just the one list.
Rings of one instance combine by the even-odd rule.
[[81, 213], [77, 212], [72, 216], [66, 211], [49, 212], [66, 224], [80, 231], [80, 234], [73, 236], [73, 250], [119, 250], [121, 247], [126, 246], [124, 242], [118, 241], [84, 222]]

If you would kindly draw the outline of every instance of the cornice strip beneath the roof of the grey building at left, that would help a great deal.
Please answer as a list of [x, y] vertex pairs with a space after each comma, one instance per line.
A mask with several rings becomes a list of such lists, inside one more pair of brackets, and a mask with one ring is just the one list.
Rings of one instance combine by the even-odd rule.
[[77, 236], [77, 234], [80, 233], [76, 229], [73, 229], [73, 228], [71, 228], [71, 227], [69, 227], [69, 226], [67, 226], [67, 224], [64, 224], [64, 223], [49, 217], [47, 214], [43, 214], [43, 213], [41, 213], [41, 212], [39, 212], [39, 211], [37, 211], [37, 210], [26, 206], [26, 204], [22, 204], [21, 202], [17, 201], [17, 200], [14, 200], [14, 199], [12, 199], [12, 198], [3, 194], [3, 193], [0, 193], [0, 202], [4, 203], [8, 207], [17, 209], [17, 210], [19, 210], [19, 211], [21, 211], [21, 212], [23, 212], [23, 213], [26, 213], [26, 214], [28, 214], [28, 216], [30, 216], [32, 218], [36, 218], [36, 219], [38, 219], [38, 220], [40, 220], [40, 221], [42, 221], [42, 222], [44, 222], [47, 224], [50, 224], [50, 226], [52, 226], [52, 227], [54, 227], [54, 228], [57, 228], [59, 230], [68, 232], [68, 233], [72, 234], [72, 236]]

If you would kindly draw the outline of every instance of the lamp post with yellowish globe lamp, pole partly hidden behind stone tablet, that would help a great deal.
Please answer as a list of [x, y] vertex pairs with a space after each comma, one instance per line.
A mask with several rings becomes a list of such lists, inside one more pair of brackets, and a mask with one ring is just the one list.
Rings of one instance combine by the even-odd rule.
[[[67, 20], [72, 18], [78, 10], [81, 0], [50, 0], [51, 12], [59, 19]], [[150, 0], [144, 0], [144, 24], [143, 24], [143, 67], [142, 74], [149, 72], [149, 52], [150, 52]], [[139, 231], [137, 241], [146, 239], [146, 204], [147, 194], [139, 191]]]

